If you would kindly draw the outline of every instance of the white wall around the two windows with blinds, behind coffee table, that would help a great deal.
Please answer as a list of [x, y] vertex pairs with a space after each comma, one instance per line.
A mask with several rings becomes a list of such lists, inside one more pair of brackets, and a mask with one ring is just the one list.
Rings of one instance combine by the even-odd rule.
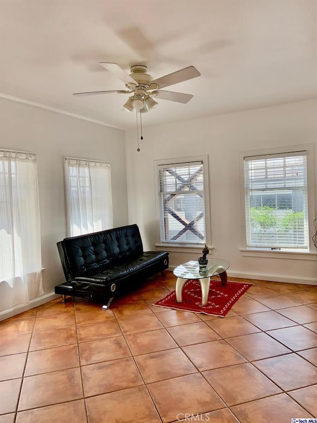
[[[159, 107], [164, 106], [161, 103]], [[146, 121], [146, 115], [143, 121]], [[315, 261], [245, 257], [239, 250], [243, 246], [239, 152], [316, 144], [316, 101], [145, 127], [144, 140], [140, 141], [141, 152], [136, 151], [134, 132], [126, 133], [129, 221], [139, 225], [145, 249], [155, 249], [154, 244], [159, 241], [154, 160], [208, 154], [211, 243], [214, 246], [211, 257], [228, 260], [231, 275], [317, 283], [316, 256]], [[170, 253], [170, 265], [176, 266], [198, 256], [194, 253]]]

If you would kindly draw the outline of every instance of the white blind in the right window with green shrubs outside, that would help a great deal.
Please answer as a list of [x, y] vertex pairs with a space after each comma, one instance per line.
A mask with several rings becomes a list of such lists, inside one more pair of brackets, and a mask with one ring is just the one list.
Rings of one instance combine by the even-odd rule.
[[244, 158], [248, 247], [308, 248], [306, 151]]

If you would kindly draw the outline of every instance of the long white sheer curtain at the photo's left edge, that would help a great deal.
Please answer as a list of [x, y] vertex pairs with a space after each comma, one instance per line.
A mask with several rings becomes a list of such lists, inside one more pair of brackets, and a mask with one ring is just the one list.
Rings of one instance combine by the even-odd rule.
[[41, 294], [36, 155], [0, 150], [0, 311]]

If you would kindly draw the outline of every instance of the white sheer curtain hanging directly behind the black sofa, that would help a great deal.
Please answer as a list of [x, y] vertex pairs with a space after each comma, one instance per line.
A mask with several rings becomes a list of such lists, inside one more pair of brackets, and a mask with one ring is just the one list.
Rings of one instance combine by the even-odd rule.
[[110, 165], [64, 158], [67, 236], [112, 228]]

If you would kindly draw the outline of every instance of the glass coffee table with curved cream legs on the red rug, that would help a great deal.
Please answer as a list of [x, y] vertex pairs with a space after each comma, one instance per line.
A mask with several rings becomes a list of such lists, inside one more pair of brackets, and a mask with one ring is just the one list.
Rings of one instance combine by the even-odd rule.
[[211, 276], [219, 275], [221, 286], [227, 284], [227, 272], [229, 263], [226, 260], [218, 258], [208, 259], [206, 270], [199, 269], [198, 261], [188, 261], [174, 269], [174, 275], [177, 276], [175, 285], [176, 301], [182, 302], [183, 287], [189, 279], [198, 279], [202, 289], [202, 305], [206, 305], [208, 301], [209, 285]]

